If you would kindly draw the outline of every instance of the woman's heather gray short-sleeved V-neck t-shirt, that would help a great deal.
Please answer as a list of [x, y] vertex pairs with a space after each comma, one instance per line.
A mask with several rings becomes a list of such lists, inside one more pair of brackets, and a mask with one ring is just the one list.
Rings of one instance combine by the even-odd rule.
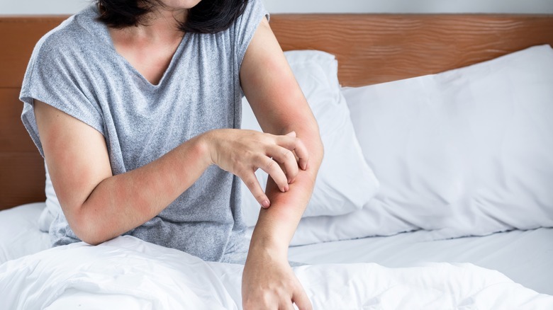
[[[240, 64], [267, 16], [260, 0], [248, 2], [228, 30], [186, 33], [157, 85], [116, 52], [108, 28], [96, 21], [96, 6], [50, 31], [35, 47], [20, 96], [23, 124], [40, 154], [33, 98], [103, 134], [114, 175], [144, 166], [202, 132], [239, 128]], [[211, 166], [157, 217], [126, 234], [204, 260], [230, 260], [247, 251], [239, 190], [238, 177]], [[62, 212], [50, 237], [54, 246], [80, 241]]]

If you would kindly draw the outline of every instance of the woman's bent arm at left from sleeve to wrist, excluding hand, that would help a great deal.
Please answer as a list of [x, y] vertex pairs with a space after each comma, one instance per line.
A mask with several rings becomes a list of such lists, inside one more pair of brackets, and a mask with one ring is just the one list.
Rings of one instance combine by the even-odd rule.
[[57, 198], [69, 226], [86, 243], [113, 239], [152, 219], [210, 165], [196, 137], [157, 161], [113, 176], [100, 132], [40, 101], [34, 108]]

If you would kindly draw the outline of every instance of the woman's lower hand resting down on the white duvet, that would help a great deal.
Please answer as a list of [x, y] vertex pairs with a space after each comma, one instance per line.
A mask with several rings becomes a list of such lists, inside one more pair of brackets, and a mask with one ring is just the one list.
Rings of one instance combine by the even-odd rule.
[[[250, 249], [250, 251], [252, 251]], [[248, 255], [242, 274], [242, 307], [252, 309], [311, 310], [311, 301], [286, 258], [262, 251]]]

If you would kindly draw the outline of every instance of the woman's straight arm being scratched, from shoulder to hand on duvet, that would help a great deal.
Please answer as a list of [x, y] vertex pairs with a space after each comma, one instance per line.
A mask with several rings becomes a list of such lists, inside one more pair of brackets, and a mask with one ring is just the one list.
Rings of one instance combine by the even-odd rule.
[[296, 132], [308, 151], [287, 192], [269, 177], [271, 206], [261, 209], [242, 276], [244, 309], [311, 309], [303, 287], [288, 263], [288, 246], [313, 193], [323, 160], [323, 144], [315, 117], [288, 62], [263, 18], [247, 48], [240, 82], [264, 132]]

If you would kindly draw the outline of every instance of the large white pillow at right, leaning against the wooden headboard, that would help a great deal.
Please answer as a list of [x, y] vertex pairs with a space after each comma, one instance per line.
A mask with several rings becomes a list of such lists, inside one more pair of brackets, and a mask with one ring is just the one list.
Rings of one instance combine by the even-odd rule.
[[553, 50], [343, 90], [381, 188], [302, 219], [294, 244], [428, 229], [435, 239], [553, 226]]

